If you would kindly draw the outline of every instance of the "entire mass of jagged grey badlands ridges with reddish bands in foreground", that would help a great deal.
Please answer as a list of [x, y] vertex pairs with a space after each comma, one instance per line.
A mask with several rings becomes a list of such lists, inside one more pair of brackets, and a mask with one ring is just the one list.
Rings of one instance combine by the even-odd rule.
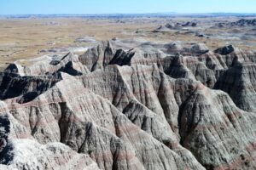
[[256, 168], [254, 52], [118, 44], [6, 68], [2, 169]]

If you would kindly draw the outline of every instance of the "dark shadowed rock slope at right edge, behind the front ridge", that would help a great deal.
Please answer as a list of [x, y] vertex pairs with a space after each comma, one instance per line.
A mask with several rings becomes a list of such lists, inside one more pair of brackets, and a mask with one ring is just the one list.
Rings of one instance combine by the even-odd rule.
[[256, 111], [255, 73], [256, 65], [251, 62], [236, 63], [219, 77], [214, 88], [230, 94], [236, 105], [245, 111]]

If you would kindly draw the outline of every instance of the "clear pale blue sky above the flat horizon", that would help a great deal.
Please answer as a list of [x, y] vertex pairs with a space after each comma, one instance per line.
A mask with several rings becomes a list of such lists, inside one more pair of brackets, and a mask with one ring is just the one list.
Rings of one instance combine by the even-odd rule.
[[0, 0], [0, 14], [256, 13], [256, 0]]

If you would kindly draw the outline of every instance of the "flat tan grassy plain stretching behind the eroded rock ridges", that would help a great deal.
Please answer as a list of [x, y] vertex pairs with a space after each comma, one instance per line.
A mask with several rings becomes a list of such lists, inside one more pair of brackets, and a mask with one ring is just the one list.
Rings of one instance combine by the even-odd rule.
[[[96, 42], [118, 38], [137, 38], [154, 42], [203, 42], [209, 48], [218, 48], [229, 43], [244, 49], [255, 49], [255, 40], [196, 37], [189, 31], [153, 32], [160, 25], [195, 20], [195, 31], [204, 31], [218, 35], [218, 30], [209, 26], [219, 20], [238, 20], [238, 18], [135, 18], [135, 19], [1, 19], [0, 20], [0, 70], [16, 60], [22, 59], [22, 65], [30, 65], [30, 59], [42, 56], [44, 49], [67, 48], [70, 46], [87, 47], [91, 42], [77, 42], [79, 37], [91, 37]], [[208, 27], [207, 27], [208, 26]], [[226, 30], [229, 31], [229, 30]]]

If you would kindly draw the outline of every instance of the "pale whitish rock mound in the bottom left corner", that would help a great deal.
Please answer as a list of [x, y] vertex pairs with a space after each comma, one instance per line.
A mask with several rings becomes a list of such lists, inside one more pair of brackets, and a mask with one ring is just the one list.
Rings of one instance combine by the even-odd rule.
[[44, 145], [31, 139], [13, 139], [11, 144], [13, 149], [9, 154], [13, 158], [6, 169], [99, 169], [90, 156], [79, 154], [65, 144]]

